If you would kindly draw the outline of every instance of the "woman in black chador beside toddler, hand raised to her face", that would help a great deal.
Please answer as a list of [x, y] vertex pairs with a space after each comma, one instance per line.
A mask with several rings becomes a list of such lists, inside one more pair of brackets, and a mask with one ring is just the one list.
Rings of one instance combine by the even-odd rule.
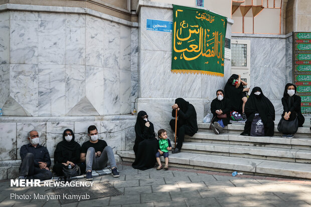
[[154, 167], [156, 163], [156, 153], [158, 152], [158, 139], [154, 133], [153, 124], [148, 120], [148, 115], [144, 111], [139, 111], [135, 124], [135, 161], [132, 167], [145, 170]]

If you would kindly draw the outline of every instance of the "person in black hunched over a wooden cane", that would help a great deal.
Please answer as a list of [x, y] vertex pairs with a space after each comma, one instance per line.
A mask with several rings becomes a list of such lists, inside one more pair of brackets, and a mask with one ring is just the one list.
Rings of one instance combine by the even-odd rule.
[[[175, 104], [172, 106], [172, 116], [175, 117], [175, 110], [178, 110], [177, 116], [177, 137], [178, 142], [176, 148], [172, 153], [181, 152], [183, 146], [185, 134], [193, 136], [198, 131], [197, 124], [197, 112], [192, 104], [185, 101], [183, 98], [178, 98], [175, 100]], [[175, 119], [170, 121], [170, 126], [173, 131], [175, 131]]]

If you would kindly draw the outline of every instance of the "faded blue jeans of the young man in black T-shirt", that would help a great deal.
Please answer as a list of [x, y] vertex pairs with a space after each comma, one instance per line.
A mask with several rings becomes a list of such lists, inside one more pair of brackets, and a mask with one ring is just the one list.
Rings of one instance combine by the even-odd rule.
[[103, 169], [107, 166], [108, 161], [111, 168], [116, 167], [113, 150], [110, 146], [106, 146], [100, 156], [95, 156], [94, 147], [90, 147], [87, 149], [85, 157], [86, 172], [92, 169]]

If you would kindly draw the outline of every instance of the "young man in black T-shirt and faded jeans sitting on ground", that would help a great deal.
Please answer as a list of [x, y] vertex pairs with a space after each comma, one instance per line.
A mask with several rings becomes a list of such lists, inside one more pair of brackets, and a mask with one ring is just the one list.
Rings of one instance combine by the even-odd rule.
[[119, 177], [116, 168], [113, 150], [104, 140], [98, 139], [98, 131], [95, 125], [87, 128], [90, 140], [81, 146], [80, 159], [86, 163], [86, 180], [92, 180], [92, 169], [103, 169], [109, 161], [113, 177]]

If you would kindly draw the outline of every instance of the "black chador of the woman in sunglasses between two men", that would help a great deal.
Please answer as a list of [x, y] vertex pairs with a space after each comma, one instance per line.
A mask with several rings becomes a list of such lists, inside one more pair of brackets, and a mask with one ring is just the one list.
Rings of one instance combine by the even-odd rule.
[[[65, 132], [70, 131], [72, 139], [68, 142], [65, 139]], [[63, 141], [59, 142], [54, 152], [54, 162], [62, 163], [71, 161], [78, 163], [80, 161], [80, 144], [75, 141], [75, 135], [71, 129], [65, 129], [63, 132]]]

